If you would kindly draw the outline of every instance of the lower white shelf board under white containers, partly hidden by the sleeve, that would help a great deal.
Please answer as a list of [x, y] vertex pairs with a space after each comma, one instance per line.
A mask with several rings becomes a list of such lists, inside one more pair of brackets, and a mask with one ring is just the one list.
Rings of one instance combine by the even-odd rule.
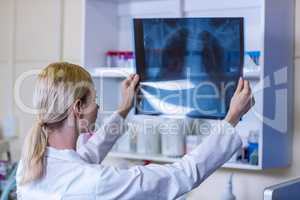
[[[111, 152], [108, 156], [112, 158], [121, 158], [128, 160], [141, 160], [141, 161], [152, 161], [157, 163], [174, 163], [180, 160], [180, 158], [172, 158], [163, 155], [144, 155], [138, 153], [123, 153], [123, 152]], [[245, 170], [261, 170], [260, 166], [243, 164], [243, 163], [226, 163], [223, 168], [233, 169], [245, 169]]]

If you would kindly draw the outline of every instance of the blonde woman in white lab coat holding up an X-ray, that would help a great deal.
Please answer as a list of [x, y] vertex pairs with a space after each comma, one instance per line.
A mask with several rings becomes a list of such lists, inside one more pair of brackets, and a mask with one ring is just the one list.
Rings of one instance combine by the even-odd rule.
[[34, 96], [37, 121], [26, 137], [17, 172], [18, 198], [175, 199], [197, 187], [241, 147], [234, 126], [251, 107], [249, 83], [242, 79], [216, 132], [180, 161], [126, 170], [101, 165], [124, 131], [138, 80], [131, 75], [123, 82], [119, 109], [76, 152], [79, 133], [88, 131], [97, 116], [91, 76], [69, 63], [43, 69]]

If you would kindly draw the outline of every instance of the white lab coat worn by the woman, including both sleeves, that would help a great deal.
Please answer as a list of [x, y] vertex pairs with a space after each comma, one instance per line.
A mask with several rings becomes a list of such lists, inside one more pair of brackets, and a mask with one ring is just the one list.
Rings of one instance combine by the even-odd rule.
[[199, 186], [242, 145], [234, 128], [221, 121], [201, 145], [174, 164], [151, 164], [130, 169], [92, 164], [101, 163], [123, 131], [123, 118], [114, 114], [77, 152], [48, 147], [45, 176], [27, 185], [19, 185], [20, 164], [17, 172], [18, 199], [176, 199]]

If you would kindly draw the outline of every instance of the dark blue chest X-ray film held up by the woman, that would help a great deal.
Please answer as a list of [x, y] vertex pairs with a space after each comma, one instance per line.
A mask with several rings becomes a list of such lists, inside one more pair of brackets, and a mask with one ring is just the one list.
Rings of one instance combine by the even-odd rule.
[[136, 114], [222, 119], [242, 75], [243, 18], [134, 19]]

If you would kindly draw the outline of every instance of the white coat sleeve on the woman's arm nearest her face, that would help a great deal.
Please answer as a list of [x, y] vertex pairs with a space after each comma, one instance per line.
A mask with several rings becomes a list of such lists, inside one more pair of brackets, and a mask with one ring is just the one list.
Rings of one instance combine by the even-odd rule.
[[126, 129], [124, 118], [115, 112], [87, 142], [79, 145], [77, 153], [90, 164], [100, 164]]

